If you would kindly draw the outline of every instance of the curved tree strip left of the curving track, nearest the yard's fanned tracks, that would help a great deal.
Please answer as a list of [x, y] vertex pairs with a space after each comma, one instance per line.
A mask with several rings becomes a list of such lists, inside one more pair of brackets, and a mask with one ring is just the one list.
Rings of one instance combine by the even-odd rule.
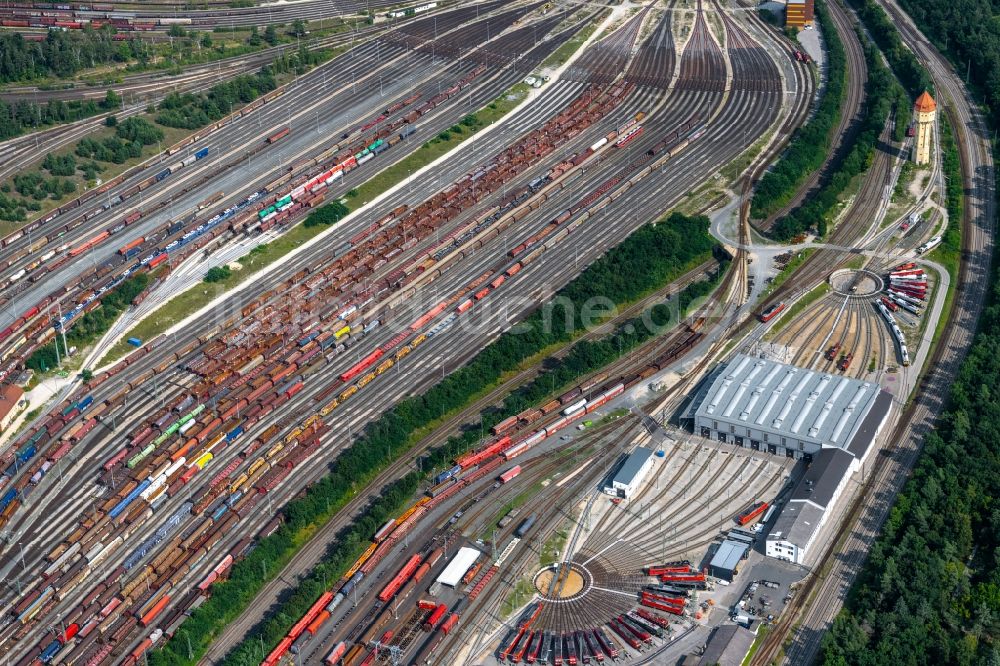
[[[761, 10], [769, 14], [769, 10]], [[781, 159], [764, 174], [754, 188], [750, 214], [755, 219], [765, 219], [781, 210], [792, 200], [802, 183], [823, 166], [833, 130], [840, 122], [844, 89], [847, 85], [847, 58], [844, 45], [833, 25], [826, 6], [816, 3], [816, 20], [827, 44], [827, 83], [816, 113], [795, 130], [782, 153]]]

